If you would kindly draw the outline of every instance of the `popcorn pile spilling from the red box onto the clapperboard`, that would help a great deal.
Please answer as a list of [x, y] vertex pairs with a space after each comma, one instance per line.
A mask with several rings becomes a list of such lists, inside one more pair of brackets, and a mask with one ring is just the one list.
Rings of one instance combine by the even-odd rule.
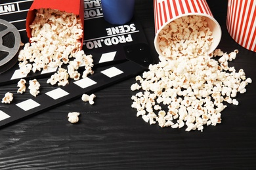
[[[79, 67], [85, 67], [83, 78], [93, 74], [93, 58], [81, 49], [83, 27], [75, 14], [54, 9], [39, 9], [30, 25], [31, 43], [26, 43], [18, 56], [19, 67], [24, 75], [30, 71], [58, 67], [58, 73], [47, 83], [58, 86], [68, 84], [68, 78], [78, 80]], [[62, 65], [68, 65], [67, 70]]]

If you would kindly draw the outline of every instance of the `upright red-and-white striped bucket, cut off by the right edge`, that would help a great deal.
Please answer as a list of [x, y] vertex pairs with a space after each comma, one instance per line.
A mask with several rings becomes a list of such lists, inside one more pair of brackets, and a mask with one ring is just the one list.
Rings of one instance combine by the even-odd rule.
[[244, 48], [256, 52], [256, 0], [228, 0], [228, 33]]

